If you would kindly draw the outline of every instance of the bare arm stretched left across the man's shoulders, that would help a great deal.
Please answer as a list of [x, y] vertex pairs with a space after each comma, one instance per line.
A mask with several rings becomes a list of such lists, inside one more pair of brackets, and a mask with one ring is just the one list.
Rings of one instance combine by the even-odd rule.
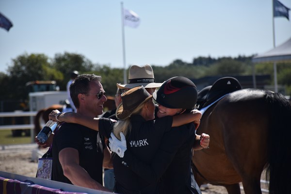
[[90, 129], [99, 130], [99, 118], [83, 116], [74, 112], [58, 113], [60, 113], [58, 110], [53, 110], [49, 113], [49, 119], [59, 122], [77, 123]]

